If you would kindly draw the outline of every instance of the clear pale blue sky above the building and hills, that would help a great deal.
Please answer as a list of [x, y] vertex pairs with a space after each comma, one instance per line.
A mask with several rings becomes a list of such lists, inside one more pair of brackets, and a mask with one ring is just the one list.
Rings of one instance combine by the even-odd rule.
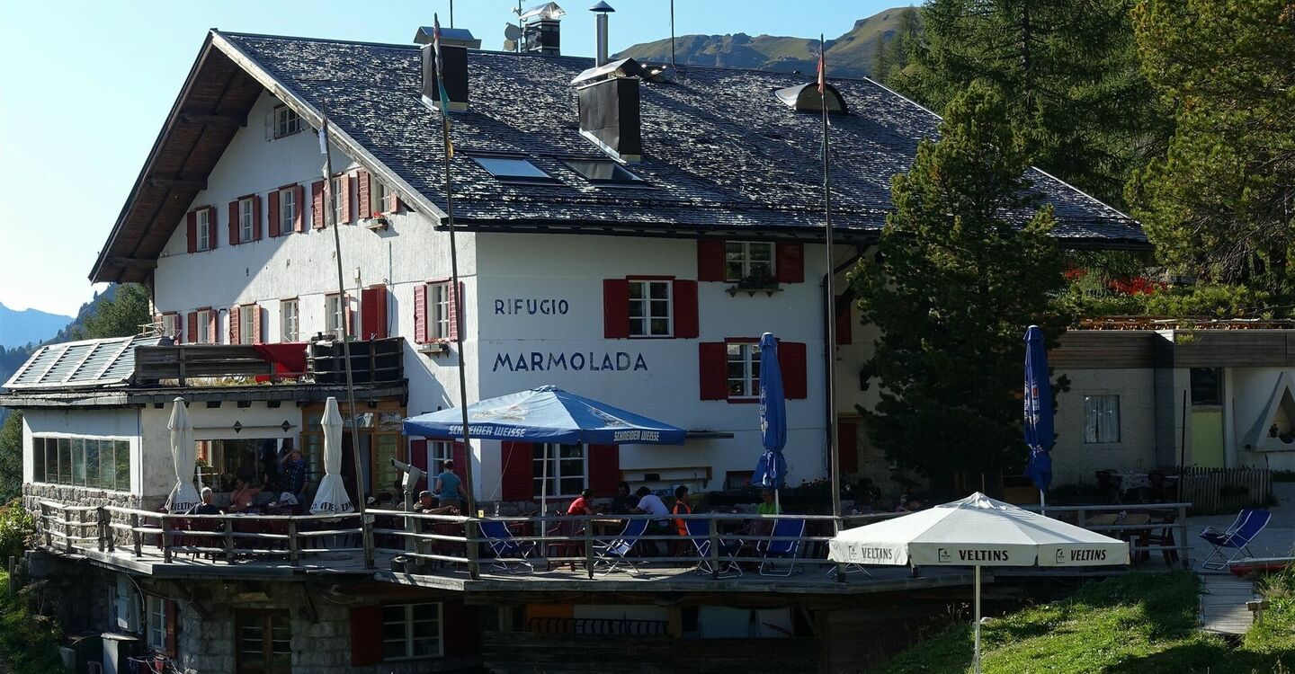
[[[613, 52], [670, 36], [670, 0], [609, 0]], [[531, 1], [523, 0], [526, 6]], [[562, 52], [592, 56], [593, 0], [559, 3]], [[676, 0], [675, 31], [848, 31], [906, 0]], [[506, 0], [457, 0], [455, 25], [500, 49]], [[0, 303], [71, 314], [205, 31], [411, 43], [449, 0], [0, 0]]]

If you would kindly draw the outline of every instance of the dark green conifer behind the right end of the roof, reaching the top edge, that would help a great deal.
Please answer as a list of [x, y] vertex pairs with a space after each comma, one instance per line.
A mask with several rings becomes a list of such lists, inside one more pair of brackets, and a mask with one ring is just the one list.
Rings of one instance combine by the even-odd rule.
[[1169, 133], [1138, 67], [1129, 3], [931, 0], [892, 84], [932, 110], [973, 82], [995, 88], [1040, 167], [1121, 206], [1129, 175]]

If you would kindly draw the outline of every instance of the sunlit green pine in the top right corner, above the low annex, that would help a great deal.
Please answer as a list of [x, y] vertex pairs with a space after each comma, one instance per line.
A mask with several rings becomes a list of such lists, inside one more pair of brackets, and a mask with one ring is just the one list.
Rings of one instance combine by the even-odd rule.
[[1164, 158], [1131, 182], [1163, 261], [1295, 296], [1295, 5], [1145, 0], [1145, 71], [1173, 106]]

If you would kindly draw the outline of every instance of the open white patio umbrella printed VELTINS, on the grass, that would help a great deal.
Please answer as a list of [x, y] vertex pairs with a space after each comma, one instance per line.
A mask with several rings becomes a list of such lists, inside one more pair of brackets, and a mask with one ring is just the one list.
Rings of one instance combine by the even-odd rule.
[[952, 503], [847, 529], [828, 542], [843, 564], [973, 567], [975, 671], [980, 671], [980, 567], [1098, 567], [1129, 563], [1128, 543], [995, 501]]

